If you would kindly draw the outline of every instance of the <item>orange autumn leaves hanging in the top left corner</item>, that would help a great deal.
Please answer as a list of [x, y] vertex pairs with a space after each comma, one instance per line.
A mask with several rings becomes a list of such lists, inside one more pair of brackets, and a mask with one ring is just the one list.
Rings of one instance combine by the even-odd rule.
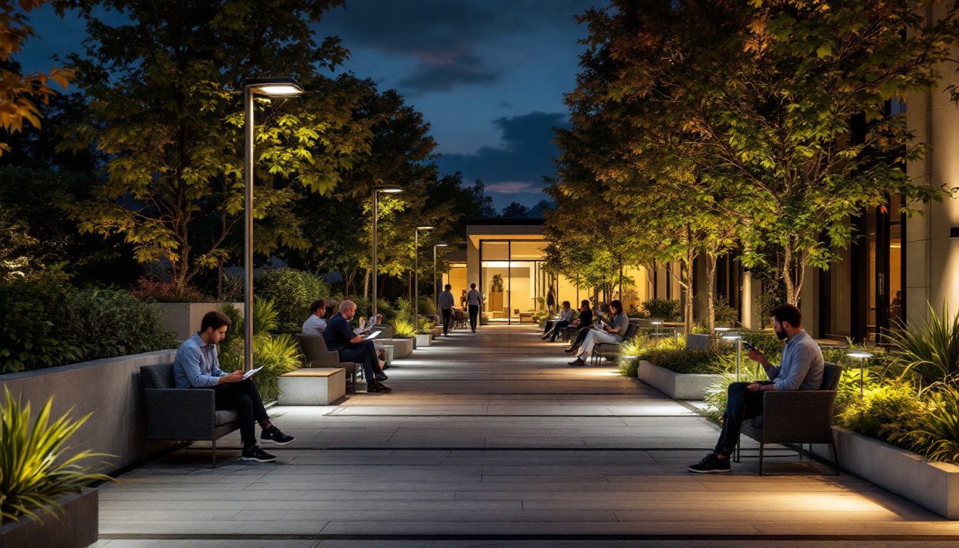
[[[0, 129], [6, 133], [23, 131], [25, 124], [39, 128], [42, 115], [35, 101], [39, 99], [44, 105], [48, 104], [55, 93], [50, 83], [58, 83], [65, 89], [73, 78], [71, 70], [56, 66], [46, 74], [22, 74], [20, 65], [12, 60], [27, 40], [36, 36], [34, 28], [28, 25], [28, 13], [47, 3], [47, 0], [0, 0]], [[62, 15], [60, 2], [55, 4]], [[9, 143], [0, 141], [0, 155], [10, 150]]]

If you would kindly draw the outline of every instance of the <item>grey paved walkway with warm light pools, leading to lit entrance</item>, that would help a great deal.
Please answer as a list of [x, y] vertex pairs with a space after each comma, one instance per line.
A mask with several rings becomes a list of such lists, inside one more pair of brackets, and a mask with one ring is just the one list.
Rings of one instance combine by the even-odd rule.
[[[101, 488], [98, 546], [946, 546], [949, 522], [779, 451], [758, 476], [686, 465], [716, 428], [614, 369], [571, 368], [531, 327], [442, 338], [389, 369], [389, 394], [275, 407], [276, 464], [239, 438]], [[821, 475], [822, 474], [822, 475]], [[815, 542], [815, 541], [818, 541]]]

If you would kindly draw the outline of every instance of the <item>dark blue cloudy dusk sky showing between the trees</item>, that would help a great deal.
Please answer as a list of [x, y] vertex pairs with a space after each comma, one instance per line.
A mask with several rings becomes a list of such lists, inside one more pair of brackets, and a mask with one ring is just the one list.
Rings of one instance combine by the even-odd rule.
[[[574, 16], [598, 0], [347, 0], [317, 26], [351, 51], [343, 70], [395, 88], [432, 124], [444, 173], [483, 179], [496, 207], [532, 206], [553, 175], [563, 93], [575, 85]], [[31, 15], [38, 38], [19, 58], [48, 70], [53, 55], [80, 51], [82, 20], [49, 7]]]

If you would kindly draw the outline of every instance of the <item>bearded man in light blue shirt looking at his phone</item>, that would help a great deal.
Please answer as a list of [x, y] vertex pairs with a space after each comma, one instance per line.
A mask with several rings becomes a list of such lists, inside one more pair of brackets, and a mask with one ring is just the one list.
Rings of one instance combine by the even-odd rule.
[[[739, 430], [746, 418], [762, 415], [762, 396], [766, 391], [819, 390], [823, 384], [823, 353], [819, 345], [800, 326], [803, 313], [791, 304], [781, 304], [769, 311], [773, 329], [780, 340], [785, 340], [780, 366], [769, 363], [756, 349], [749, 350], [749, 358], [759, 362], [771, 382], [740, 382], [729, 385], [726, 413], [722, 431], [712, 453], [695, 465], [690, 472], [714, 474], [730, 471], [730, 455], [739, 441]], [[801, 418], [801, 417], [800, 417]]]

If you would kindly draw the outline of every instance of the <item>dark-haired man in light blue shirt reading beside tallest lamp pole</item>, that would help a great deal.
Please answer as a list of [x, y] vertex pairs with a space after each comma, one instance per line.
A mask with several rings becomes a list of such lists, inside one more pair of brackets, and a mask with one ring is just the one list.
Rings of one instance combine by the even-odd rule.
[[216, 397], [218, 410], [234, 410], [240, 417], [240, 439], [243, 442], [241, 460], [271, 463], [276, 457], [256, 444], [254, 421], [260, 423], [261, 443], [288, 445], [295, 438], [280, 432], [269, 421], [260, 392], [252, 378], [244, 379], [244, 372], [224, 373], [217, 357], [217, 345], [226, 336], [230, 319], [218, 311], [207, 312], [199, 324], [199, 332], [187, 339], [176, 350], [174, 381], [178, 389], [209, 389]]

